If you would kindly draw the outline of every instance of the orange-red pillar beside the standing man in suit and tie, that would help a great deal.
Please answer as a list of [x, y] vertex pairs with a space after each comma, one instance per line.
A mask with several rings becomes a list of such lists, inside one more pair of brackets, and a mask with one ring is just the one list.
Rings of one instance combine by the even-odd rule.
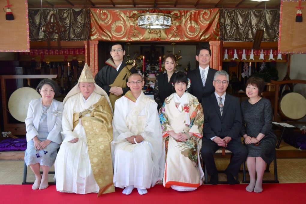
[[209, 41], [212, 59], [209, 66], [216, 70], [222, 69], [222, 41]]

